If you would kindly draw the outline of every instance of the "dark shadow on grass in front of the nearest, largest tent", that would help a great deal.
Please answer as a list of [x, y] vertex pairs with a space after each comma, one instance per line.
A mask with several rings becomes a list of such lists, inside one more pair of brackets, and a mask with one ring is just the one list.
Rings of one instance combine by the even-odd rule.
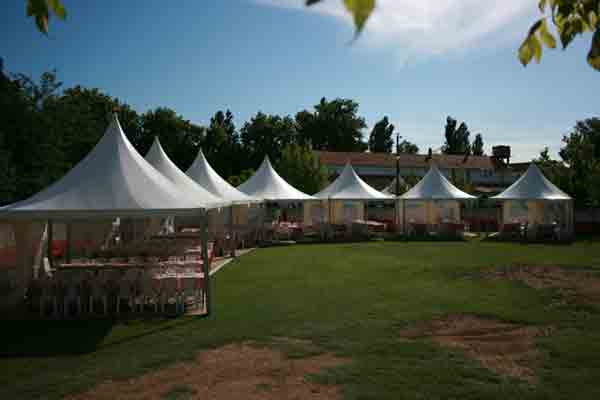
[[[147, 336], [177, 329], [202, 317], [118, 321], [111, 319], [77, 321], [2, 321], [0, 357], [56, 357], [92, 353]], [[148, 324], [139, 333], [109, 339], [118, 324]]]

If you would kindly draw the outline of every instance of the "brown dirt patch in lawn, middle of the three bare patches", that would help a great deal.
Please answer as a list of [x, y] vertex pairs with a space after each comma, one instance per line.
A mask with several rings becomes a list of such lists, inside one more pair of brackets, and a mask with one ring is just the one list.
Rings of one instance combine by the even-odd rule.
[[401, 336], [430, 338], [439, 345], [463, 350], [500, 375], [534, 383], [531, 361], [536, 357], [535, 339], [550, 331], [461, 314], [420, 323], [403, 330]]

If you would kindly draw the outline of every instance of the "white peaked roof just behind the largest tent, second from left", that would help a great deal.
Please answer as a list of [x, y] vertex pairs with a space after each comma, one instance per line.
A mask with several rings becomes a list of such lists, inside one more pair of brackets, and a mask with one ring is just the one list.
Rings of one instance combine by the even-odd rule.
[[163, 150], [158, 137], [154, 138], [152, 147], [146, 153], [146, 161], [163, 174], [167, 179], [173, 182], [180, 190], [198, 200], [210, 204], [223, 204], [227, 201], [219, 196], [215, 196], [208, 190], [198, 185], [192, 178], [187, 176], [171, 161], [169, 156]]

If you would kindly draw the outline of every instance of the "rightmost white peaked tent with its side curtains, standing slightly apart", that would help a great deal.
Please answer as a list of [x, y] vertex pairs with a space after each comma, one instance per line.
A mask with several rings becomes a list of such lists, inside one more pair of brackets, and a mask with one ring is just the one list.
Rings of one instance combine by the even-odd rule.
[[530, 236], [535, 236], [544, 225], [556, 225], [567, 237], [573, 233], [572, 198], [550, 182], [534, 163], [492, 199], [502, 201], [502, 231], [506, 224], [527, 224], [532, 228], [528, 229]]

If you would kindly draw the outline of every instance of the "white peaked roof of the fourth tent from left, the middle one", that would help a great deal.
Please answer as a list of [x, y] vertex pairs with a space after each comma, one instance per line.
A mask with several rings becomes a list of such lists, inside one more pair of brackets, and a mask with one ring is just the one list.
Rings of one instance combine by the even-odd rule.
[[314, 200], [315, 198], [294, 188], [287, 183], [275, 170], [269, 157], [260, 165], [260, 168], [246, 182], [238, 186], [238, 190], [249, 196], [271, 201], [300, 201]]

